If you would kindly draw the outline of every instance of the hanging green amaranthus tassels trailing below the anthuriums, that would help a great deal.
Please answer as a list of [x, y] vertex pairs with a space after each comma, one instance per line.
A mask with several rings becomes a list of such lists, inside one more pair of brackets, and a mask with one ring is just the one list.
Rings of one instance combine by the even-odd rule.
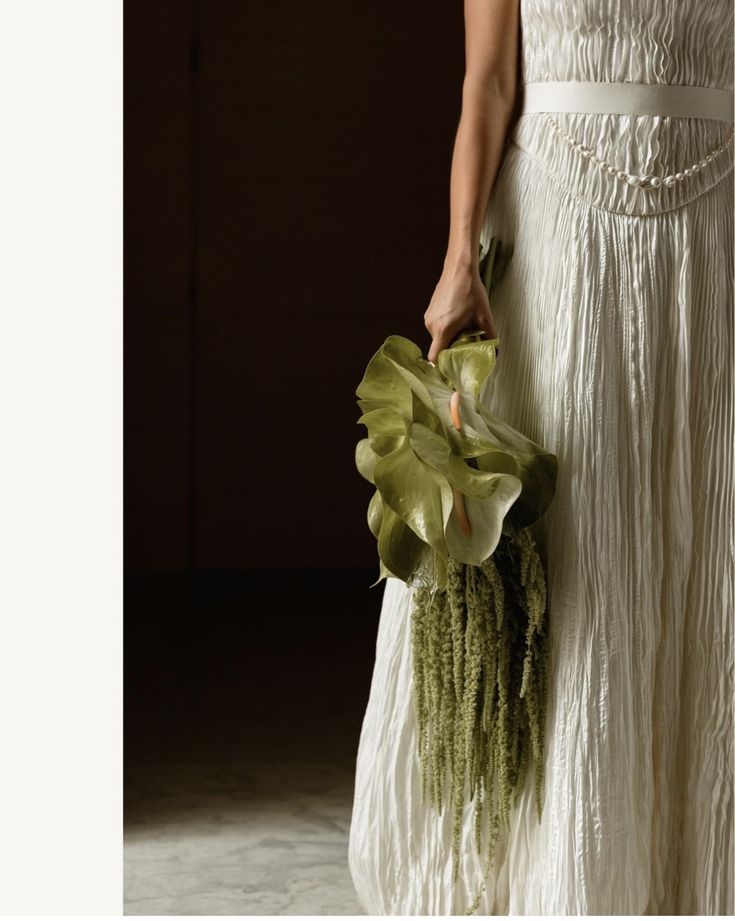
[[[413, 594], [411, 644], [422, 789], [437, 813], [452, 804], [453, 879], [459, 875], [466, 789], [491, 867], [529, 762], [540, 820], [547, 693], [546, 582], [531, 532], [501, 536], [481, 566], [450, 560], [443, 588]], [[479, 903], [482, 889], [468, 914]]]

